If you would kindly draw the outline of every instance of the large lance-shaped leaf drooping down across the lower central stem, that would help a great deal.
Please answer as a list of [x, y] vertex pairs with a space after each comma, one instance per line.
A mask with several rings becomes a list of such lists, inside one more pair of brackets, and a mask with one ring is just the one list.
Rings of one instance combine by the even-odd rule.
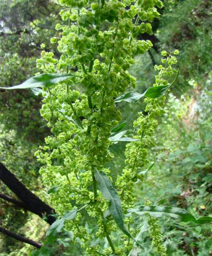
[[[112, 184], [108, 179], [107, 175], [104, 172], [96, 169], [95, 178], [99, 183], [99, 188], [102, 192], [104, 199], [109, 201], [108, 208], [111, 216], [115, 220], [115, 223], [125, 235], [135, 240], [124, 225], [121, 200], [119, 198], [119, 195], [117, 194], [117, 191], [112, 187]], [[136, 243], [138, 242], [136, 241]]]

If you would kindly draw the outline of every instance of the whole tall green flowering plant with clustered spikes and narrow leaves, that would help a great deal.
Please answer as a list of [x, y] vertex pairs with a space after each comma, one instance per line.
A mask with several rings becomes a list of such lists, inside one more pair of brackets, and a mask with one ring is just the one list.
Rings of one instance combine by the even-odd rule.
[[[143, 248], [136, 236], [140, 229], [134, 222], [136, 210], [129, 208], [134, 207], [137, 196], [135, 183], [143, 181], [145, 172], [152, 167], [143, 170], [149, 164], [147, 149], [155, 144], [152, 135], [157, 128], [157, 117], [164, 113], [164, 94], [178, 76], [172, 65], [176, 64], [174, 55], [179, 52], [162, 51], [162, 64], [155, 66], [158, 71], [155, 84], [144, 94], [134, 91], [120, 96], [126, 88], [135, 87], [135, 78], [127, 72], [133, 57], [152, 46], [148, 40], [136, 40], [138, 33], [152, 33], [151, 25], [140, 21], [157, 18], [155, 5], [160, 8], [162, 2], [58, 2], [67, 7], [60, 13], [67, 25], [56, 25], [57, 30], [63, 31], [62, 38], [51, 40], [58, 41], [60, 60], [43, 50], [37, 66], [44, 73], [6, 88], [42, 87], [33, 91], [41, 92], [44, 97], [40, 112], [53, 135], [45, 138], [46, 145], [40, 147], [36, 156], [44, 164], [40, 173], [44, 183], [51, 187], [51, 202], [60, 216], [48, 230], [45, 245], [51, 245], [65, 227], [85, 255], [128, 255], [134, 246]], [[73, 66], [77, 66], [75, 73]], [[134, 131], [122, 131], [124, 123], [120, 123], [121, 112], [116, 103], [123, 100], [134, 103], [144, 96], [146, 109], [138, 113]], [[129, 142], [125, 150], [126, 166], [114, 189], [107, 168], [114, 157], [109, 147], [123, 141]], [[148, 206], [145, 212], [151, 215], [152, 208], [155, 212], [162, 211], [157, 206]], [[164, 209], [171, 215], [184, 213], [173, 207]], [[185, 214], [183, 221], [211, 221], [210, 217], [196, 219]], [[166, 255], [159, 226], [151, 219], [149, 226], [152, 244], [160, 243], [156, 252]], [[45, 246], [42, 252], [46, 253]]]

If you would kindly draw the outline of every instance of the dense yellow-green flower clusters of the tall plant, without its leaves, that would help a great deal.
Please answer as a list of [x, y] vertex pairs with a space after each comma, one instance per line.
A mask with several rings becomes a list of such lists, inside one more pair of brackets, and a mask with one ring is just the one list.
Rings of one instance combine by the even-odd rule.
[[[103, 171], [111, 179], [110, 170], [104, 168], [114, 157], [109, 150], [109, 137], [112, 128], [121, 121], [114, 98], [127, 87], [135, 87], [136, 80], [127, 69], [134, 62], [134, 55], [143, 54], [152, 46], [149, 40], [136, 40], [138, 33], [152, 33], [151, 25], [141, 21], [158, 17], [155, 5], [162, 7], [162, 2], [57, 2], [66, 7], [60, 13], [64, 24], [56, 25], [61, 38], [52, 38], [51, 42], [58, 42], [61, 57], [57, 61], [53, 53], [42, 51], [37, 66], [44, 73], [69, 73], [71, 78], [43, 89], [40, 112], [52, 135], [45, 138], [46, 145], [36, 153], [43, 164], [40, 173], [45, 184], [55, 188], [50, 196], [59, 216], [88, 204], [84, 217], [91, 220], [90, 228], [96, 223], [92, 235], [82, 220], [82, 213], [66, 223], [86, 255], [126, 255], [133, 243], [123, 241], [123, 246], [114, 247], [110, 235], [117, 226], [111, 215], [104, 216], [108, 202], [97, 190], [95, 170]], [[154, 86], [167, 85], [164, 76], [173, 74], [171, 64], [176, 60], [169, 54], [165, 62], [165, 67], [156, 66], [159, 75]], [[133, 202], [135, 197], [134, 182], [143, 178], [138, 170], [148, 162], [147, 148], [154, 144], [155, 118], [163, 113], [163, 104], [164, 97], [148, 99], [148, 115], [139, 113], [134, 123], [138, 141], [127, 145], [127, 166], [116, 182], [125, 208], [129, 206], [127, 201]], [[105, 238], [110, 247], [100, 253], [99, 243], [92, 241]]]

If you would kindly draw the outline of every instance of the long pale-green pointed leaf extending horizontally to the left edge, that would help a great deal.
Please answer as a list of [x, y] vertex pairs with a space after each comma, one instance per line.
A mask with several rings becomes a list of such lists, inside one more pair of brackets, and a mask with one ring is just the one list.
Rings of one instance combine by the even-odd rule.
[[15, 85], [11, 87], [0, 87], [1, 89], [27, 89], [27, 88], [37, 88], [37, 87], [50, 87], [59, 82], [62, 82], [73, 75], [70, 74], [41, 74], [38, 76], [33, 76], [23, 82], [20, 85]]

